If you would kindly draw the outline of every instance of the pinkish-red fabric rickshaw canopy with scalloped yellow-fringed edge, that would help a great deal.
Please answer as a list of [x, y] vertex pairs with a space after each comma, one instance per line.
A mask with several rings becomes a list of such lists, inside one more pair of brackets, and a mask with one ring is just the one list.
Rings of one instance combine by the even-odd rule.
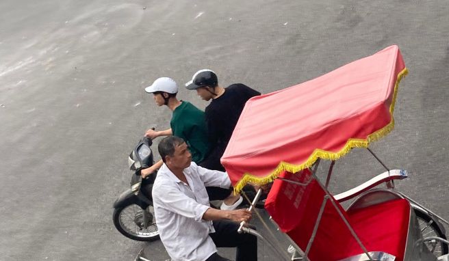
[[235, 190], [265, 184], [281, 171], [336, 160], [394, 128], [398, 83], [407, 74], [398, 46], [321, 77], [251, 98], [221, 162]]

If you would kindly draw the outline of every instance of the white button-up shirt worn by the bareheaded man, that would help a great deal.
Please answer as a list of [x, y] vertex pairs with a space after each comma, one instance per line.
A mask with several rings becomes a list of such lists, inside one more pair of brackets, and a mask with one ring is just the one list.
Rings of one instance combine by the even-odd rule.
[[174, 261], [204, 261], [217, 251], [209, 233], [212, 221], [203, 215], [210, 208], [207, 187], [231, 187], [226, 172], [199, 167], [183, 171], [185, 184], [164, 164], [153, 185], [153, 204], [162, 243]]

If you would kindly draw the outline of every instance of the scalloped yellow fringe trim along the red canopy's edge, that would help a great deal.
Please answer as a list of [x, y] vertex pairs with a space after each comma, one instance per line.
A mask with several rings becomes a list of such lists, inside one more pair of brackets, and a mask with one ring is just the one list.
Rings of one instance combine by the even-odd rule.
[[240, 191], [243, 189], [243, 187], [247, 183], [263, 185], [263, 184], [272, 182], [284, 170], [289, 171], [291, 173], [295, 173], [295, 172], [301, 171], [303, 169], [307, 169], [308, 167], [311, 167], [311, 165], [313, 165], [313, 163], [315, 163], [315, 161], [318, 158], [335, 161], [335, 160], [341, 158], [342, 156], [346, 155], [352, 148], [368, 148], [368, 145], [371, 142], [377, 141], [377, 140], [381, 139], [382, 137], [385, 137], [385, 135], [387, 135], [394, 129], [393, 112], [394, 112], [394, 105], [396, 103], [396, 96], [398, 94], [398, 86], [399, 86], [399, 83], [402, 80], [402, 78], [405, 77], [405, 75], [407, 75], [408, 72], [409, 71], [407, 70], [407, 68], [404, 68], [398, 74], [396, 84], [394, 85], [394, 94], [393, 94], [392, 105], [390, 105], [390, 107], [389, 107], [389, 112], [392, 115], [392, 120], [385, 127], [368, 135], [367, 139], [348, 139], [348, 141], [346, 142], [346, 145], [339, 152], [328, 152], [326, 150], [316, 149], [313, 151], [311, 156], [309, 156], [309, 159], [307, 159], [307, 161], [305, 161], [305, 163], [300, 164], [300, 165], [294, 165], [294, 164], [286, 163], [285, 161], [281, 161], [281, 163], [279, 163], [277, 168], [274, 169], [274, 171], [272, 171], [268, 176], [266, 176], [264, 178], [259, 178], [257, 176], [251, 175], [250, 173], [245, 173], [243, 175], [242, 179], [237, 184], [235, 184], [234, 192], [240, 193]]

